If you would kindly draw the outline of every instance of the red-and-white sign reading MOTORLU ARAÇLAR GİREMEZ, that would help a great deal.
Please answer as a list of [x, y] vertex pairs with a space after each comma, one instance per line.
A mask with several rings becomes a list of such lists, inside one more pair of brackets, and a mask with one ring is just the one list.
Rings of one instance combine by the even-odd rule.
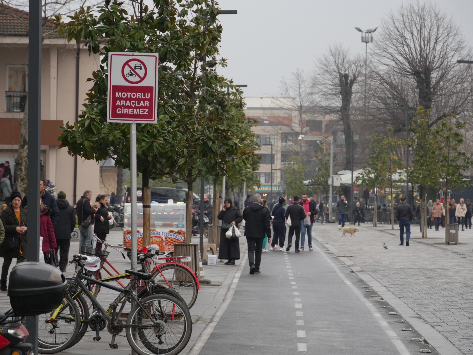
[[158, 54], [109, 52], [107, 122], [157, 119]]

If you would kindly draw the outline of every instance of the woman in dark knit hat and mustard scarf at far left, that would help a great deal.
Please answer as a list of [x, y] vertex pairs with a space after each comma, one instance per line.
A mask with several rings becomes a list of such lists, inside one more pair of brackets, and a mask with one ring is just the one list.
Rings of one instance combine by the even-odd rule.
[[13, 191], [10, 197], [11, 203], [0, 215], [5, 228], [5, 238], [0, 244], [0, 257], [3, 258], [1, 291], [7, 291], [7, 276], [13, 258], [17, 259], [17, 264], [26, 261], [26, 210], [20, 207], [21, 194], [18, 191]]

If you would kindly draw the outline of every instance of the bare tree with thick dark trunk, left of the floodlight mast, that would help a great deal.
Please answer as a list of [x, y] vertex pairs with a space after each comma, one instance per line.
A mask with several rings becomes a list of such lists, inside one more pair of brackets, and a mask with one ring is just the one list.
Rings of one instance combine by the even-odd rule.
[[327, 114], [334, 114], [343, 122], [345, 131], [345, 169], [351, 169], [352, 142], [351, 104], [354, 87], [360, 79], [363, 60], [352, 56], [341, 44], [329, 46], [327, 52], [317, 61], [312, 79], [317, 88], [317, 97]]

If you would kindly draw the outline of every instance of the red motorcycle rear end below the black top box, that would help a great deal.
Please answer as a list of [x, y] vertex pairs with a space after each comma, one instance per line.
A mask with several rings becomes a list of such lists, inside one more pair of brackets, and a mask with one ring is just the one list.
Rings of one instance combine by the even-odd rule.
[[21, 320], [21, 317], [13, 315], [12, 310], [0, 313], [0, 355], [34, 355], [31, 351], [33, 345], [25, 343], [29, 332]]

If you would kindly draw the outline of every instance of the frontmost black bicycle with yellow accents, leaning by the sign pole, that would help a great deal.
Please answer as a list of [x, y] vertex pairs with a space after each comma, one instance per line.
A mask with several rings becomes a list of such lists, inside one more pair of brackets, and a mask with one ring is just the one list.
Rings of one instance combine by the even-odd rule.
[[[74, 277], [73, 285], [79, 287], [77, 294], [82, 293], [93, 303], [93, 313], [88, 317], [88, 326], [93, 331], [96, 331], [94, 340], [100, 340], [100, 331], [107, 327], [109, 332], [113, 334], [112, 342], [110, 343], [111, 348], [118, 348], [117, 344], [114, 343], [115, 336], [125, 329], [128, 343], [137, 354], [175, 355], [184, 349], [192, 333], [192, 319], [185, 303], [167, 294], [150, 294], [143, 298], [135, 295], [141, 280], [151, 280], [151, 274], [149, 273], [126, 270], [126, 273], [131, 275], [131, 281], [124, 289], [88, 277], [83, 272], [85, 267], [83, 260], [87, 260], [87, 258], [87, 256], [80, 254], [74, 255], [72, 262], [79, 265], [79, 270], [76, 277]], [[86, 282], [84, 283], [83, 281]], [[105, 310], [90, 292], [89, 284], [100, 285], [120, 292], [120, 294]], [[148, 285], [147, 288], [150, 291]], [[124, 318], [121, 315], [127, 303], [132, 303], [131, 312], [128, 314], [125, 323], [123, 323]], [[117, 310], [119, 304], [121, 306]], [[62, 313], [67, 313], [67, 310], [70, 309], [76, 309], [74, 315], [63, 317]], [[85, 309], [88, 312], [88, 308]], [[67, 295], [66, 301], [52, 313], [50, 320], [53, 318], [54, 320], [57, 319], [57, 316], [60, 314], [61, 318], [67, 318], [69, 324], [74, 324], [72, 335], [65, 342], [59, 344], [59, 346], [55, 345], [53, 349], [47, 349], [46, 351], [41, 351], [41, 353], [53, 354], [60, 352], [76, 344], [83, 337], [85, 332], [82, 333], [80, 331], [82, 320], [76, 321], [80, 319], [78, 313], [79, 310], [76, 302]], [[84, 321], [86, 322], [86, 320]], [[53, 323], [53, 320], [50, 323]], [[56, 322], [55, 327], [52, 329], [56, 330], [59, 328], [57, 324]]]

